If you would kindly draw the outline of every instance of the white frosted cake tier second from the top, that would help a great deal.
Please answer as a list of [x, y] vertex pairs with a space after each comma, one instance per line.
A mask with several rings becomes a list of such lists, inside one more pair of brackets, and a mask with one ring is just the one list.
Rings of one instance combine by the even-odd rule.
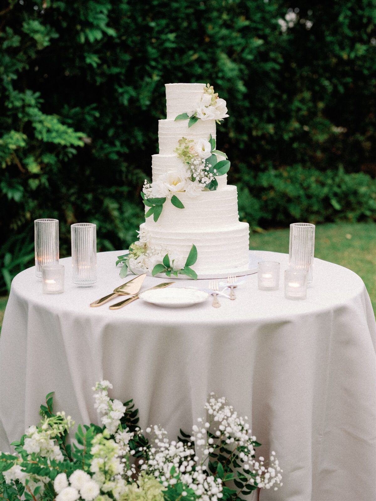
[[209, 139], [216, 137], [215, 120], [199, 120], [192, 127], [188, 127], [188, 120], [158, 120], [159, 153], [173, 155], [177, 142], [182, 137], [187, 139]]

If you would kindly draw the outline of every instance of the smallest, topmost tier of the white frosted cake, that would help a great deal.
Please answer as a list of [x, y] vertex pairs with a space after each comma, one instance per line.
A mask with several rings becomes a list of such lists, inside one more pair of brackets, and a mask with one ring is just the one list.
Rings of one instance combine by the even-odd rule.
[[165, 84], [167, 120], [181, 113], [197, 109], [203, 97], [205, 84]]

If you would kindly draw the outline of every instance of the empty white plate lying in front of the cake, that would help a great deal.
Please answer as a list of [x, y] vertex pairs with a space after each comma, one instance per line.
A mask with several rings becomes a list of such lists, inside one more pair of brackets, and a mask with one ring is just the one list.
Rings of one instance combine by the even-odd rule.
[[192, 306], [205, 301], [209, 294], [197, 289], [185, 289], [175, 287], [170, 289], [153, 289], [141, 292], [139, 298], [157, 306], [168, 308], [182, 308], [183, 306]]

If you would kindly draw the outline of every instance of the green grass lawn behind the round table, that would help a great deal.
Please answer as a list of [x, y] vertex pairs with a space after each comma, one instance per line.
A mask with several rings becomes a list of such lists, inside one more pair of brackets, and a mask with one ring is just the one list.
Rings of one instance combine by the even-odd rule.
[[[253, 233], [250, 248], [288, 253], [289, 229]], [[330, 223], [316, 226], [315, 257], [357, 273], [376, 312], [376, 223]], [[0, 329], [7, 297], [0, 297]]]

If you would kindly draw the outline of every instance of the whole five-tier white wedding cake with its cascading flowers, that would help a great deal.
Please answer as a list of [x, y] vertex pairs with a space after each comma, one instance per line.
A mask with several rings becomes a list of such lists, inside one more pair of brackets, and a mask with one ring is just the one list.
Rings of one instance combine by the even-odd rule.
[[230, 161], [216, 147], [226, 101], [209, 84], [166, 84], [167, 118], [158, 121], [159, 153], [141, 193], [145, 222], [139, 240], [119, 256], [121, 276], [171, 277], [248, 269], [249, 225], [239, 221]]

